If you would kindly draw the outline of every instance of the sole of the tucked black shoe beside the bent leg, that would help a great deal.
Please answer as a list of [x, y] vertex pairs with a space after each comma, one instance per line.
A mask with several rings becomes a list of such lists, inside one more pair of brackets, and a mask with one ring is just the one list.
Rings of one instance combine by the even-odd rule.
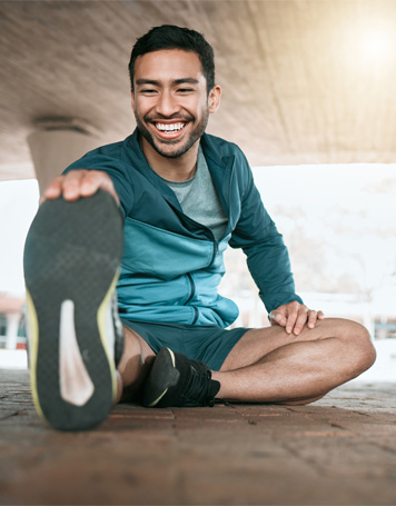
[[143, 406], [159, 407], [161, 399], [170, 387], [177, 385], [180, 373], [176, 369], [174, 351], [169, 348], [161, 348], [145, 385]]

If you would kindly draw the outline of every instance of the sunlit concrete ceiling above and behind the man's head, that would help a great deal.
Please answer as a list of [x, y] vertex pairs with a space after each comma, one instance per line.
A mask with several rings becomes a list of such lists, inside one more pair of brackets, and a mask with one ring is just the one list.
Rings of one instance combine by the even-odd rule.
[[37, 119], [87, 121], [98, 145], [128, 136], [130, 50], [162, 23], [214, 46], [208, 131], [251, 165], [395, 161], [396, 1], [1, 1], [0, 179], [33, 176]]

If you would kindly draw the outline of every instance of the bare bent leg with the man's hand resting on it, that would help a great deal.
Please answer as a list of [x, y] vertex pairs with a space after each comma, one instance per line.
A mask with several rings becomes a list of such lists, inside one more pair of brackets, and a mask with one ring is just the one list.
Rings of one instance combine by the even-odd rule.
[[278, 326], [249, 330], [212, 377], [221, 384], [219, 398], [307, 404], [374, 361], [375, 349], [364, 327], [328, 318], [299, 336]]

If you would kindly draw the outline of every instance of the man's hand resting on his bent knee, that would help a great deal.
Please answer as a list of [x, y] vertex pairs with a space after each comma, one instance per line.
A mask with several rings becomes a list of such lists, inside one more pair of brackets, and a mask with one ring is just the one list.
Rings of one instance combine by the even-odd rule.
[[308, 309], [307, 306], [297, 301], [284, 304], [270, 312], [271, 325], [280, 325], [280, 327], [286, 328], [287, 334], [293, 333], [295, 336], [301, 333], [305, 325], [308, 328], [314, 328], [317, 320], [324, 318], [323, 311]]

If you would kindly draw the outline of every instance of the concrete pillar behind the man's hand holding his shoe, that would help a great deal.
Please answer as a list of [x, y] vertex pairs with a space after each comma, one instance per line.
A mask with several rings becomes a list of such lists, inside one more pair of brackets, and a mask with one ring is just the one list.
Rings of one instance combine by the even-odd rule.
[[46, 119], [36, 122], [28, 137], [40, 194], [71, 162], [98, 147], [92, 127], [75, 119]]

